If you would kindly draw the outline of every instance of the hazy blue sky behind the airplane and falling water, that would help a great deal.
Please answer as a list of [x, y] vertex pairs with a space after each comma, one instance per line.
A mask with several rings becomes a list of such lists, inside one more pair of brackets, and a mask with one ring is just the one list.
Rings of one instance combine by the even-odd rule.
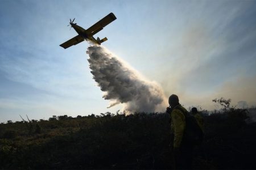
[[89, 28], [113, 12], [96, 37], [166, 97], [185, 107], [256, 104], [256, 1], [0, 1], [0, 122], [115, 112], [90, 74], [88, 44], [69, 18]]

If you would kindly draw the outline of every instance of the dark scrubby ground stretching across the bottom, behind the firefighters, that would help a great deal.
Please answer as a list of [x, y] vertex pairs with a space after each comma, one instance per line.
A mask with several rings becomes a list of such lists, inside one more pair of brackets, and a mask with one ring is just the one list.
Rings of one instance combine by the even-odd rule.
[[[196, 169], [256, 169], [256, 124], [245, 109], [203, 114]], [[0, 125], [1, 169], [172, 169], [166, 113], [105, 113]], [[29, 127], [29, 128], [28, 128]], [[32, 130], [31, 130], [31, 129]]]

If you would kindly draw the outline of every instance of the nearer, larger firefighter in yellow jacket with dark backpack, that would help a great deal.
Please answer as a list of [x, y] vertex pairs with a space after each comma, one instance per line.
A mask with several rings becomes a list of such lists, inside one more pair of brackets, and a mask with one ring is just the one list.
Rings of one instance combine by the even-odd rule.
[[169, 97], [169, 104], [166, 112], [171, 116], [174, 168], [192, 169], [193, 149], [203, 141], [203, 131], [196, 118], [179, 104], [177, 95]]

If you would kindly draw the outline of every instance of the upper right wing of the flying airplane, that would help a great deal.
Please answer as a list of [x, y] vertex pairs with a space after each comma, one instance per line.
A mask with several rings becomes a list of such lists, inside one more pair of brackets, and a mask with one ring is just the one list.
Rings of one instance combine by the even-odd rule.
[[101, 20], [99, 20], [96, 24], [92, 25], [92, 27], [86, 29], [86, 33], [88, 33], [88, 35], [93, 36], [97, 32], [101, 31], [101, 29], [103, 29], [103, 27], [105, 27], [109, 23], [113, 22], [113, 20], [115, 20], [115, 19], [117, 19], [117, 18], [111, 12], [109, 15], [107, 15], [104, 18], [102, 18]]

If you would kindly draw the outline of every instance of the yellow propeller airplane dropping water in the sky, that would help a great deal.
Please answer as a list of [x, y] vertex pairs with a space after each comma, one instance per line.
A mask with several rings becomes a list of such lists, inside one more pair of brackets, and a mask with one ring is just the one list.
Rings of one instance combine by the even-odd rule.
[[104, 18], [102, 18], [100, 21], [98, 21], [96, 24], [92, 25], [92, 27], [90, 27], [88, 29], [84, 29], [84, 28], [80, 27], [79, 25], [77, 25], [76, 23], [73, 23], [75, 18], [72, 21], [70, 19], [69, 25], [71, 25], [71, 27], [73, 27], [79, 35], [64, 42], [63, 44], [60, 44], [60, 46], [62, 46], [63, 48], [66, 49], [66, 48], [69, 48], [69, 46], [79, 44], [80, 42], [82, 42], [84, 40], [89, 40], [89, 41], [94, 42], [95, 44], [101, 45], [102, 42], [104, 42], [108, 39], [105, 37], [104, 39], [100, 40], [100, 38], [97, 37], [97, 40], [96, 40], [96, 39], [94, 39], [93, 35], [99, 31], [101, 31], [101, 29], [103, 29], [103, 27], [105, 27], [109, 23], [113, 22], [113, 20], [115, 20], [115, 19], [117, 19], [117, 18], [111, 12], [109, 15], [105, 16]]

